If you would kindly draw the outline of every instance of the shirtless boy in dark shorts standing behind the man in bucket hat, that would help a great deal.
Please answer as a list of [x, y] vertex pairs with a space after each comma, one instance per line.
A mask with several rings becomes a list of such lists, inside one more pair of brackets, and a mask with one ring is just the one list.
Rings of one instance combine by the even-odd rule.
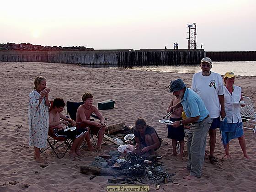
[[[166, 112], [170, 112], [170, 108], [172, 106], [176, 105], [180, 101], [181, 100], [178, 98], [173, 98], [171, 100], [171, 103], [168, 106]], [[183, 107], [173, 110], [173, 112], [171, 113], [170, 121], [172, 121], [172, 122], [181, 121], [182, 120], [182, 117], [181, 117], [182, 111], [183, 111]], [[181, 125], [178, 128], [174, 128], [171, 125], [167, 125], [167, 128], [168, 128], [167, 138], [172, 139], [172, 155], [171, 156], [177, 155], [177, 151], [176, 151], [177, 141], [179, 141], [181, 144], [179, 159], [182, 160], [183, 150], [184, 150], [184, 137], [185, 137], [184, 126]]]

